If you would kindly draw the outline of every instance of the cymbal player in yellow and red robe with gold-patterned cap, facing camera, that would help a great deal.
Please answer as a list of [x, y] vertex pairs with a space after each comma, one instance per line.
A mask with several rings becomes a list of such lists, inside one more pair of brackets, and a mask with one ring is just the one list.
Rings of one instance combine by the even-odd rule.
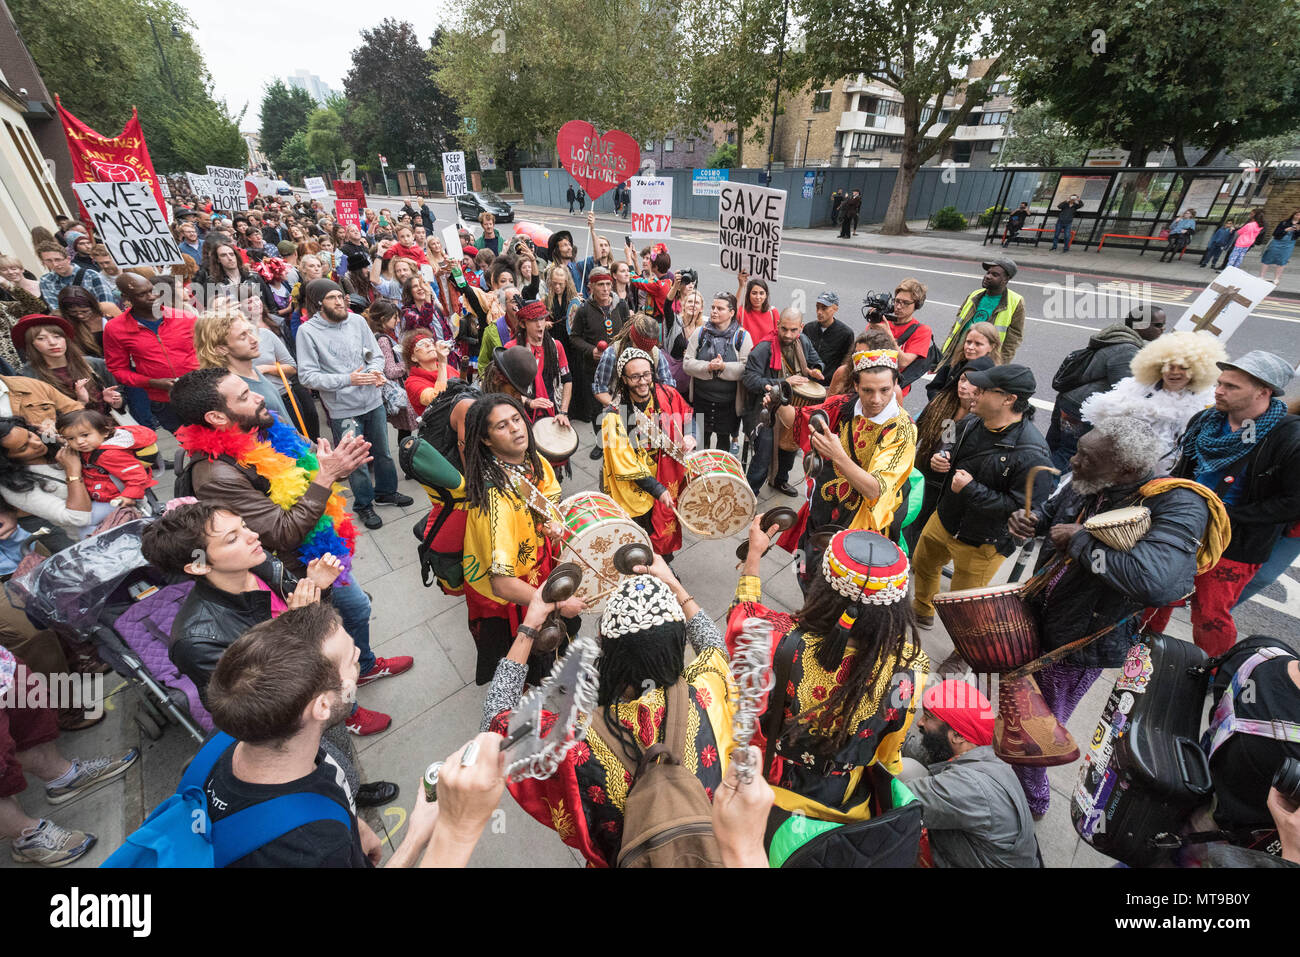
[[[807, 477], [809, 501], [798, 521], [781, 536], [786, 551], [805, 557], [800, 585], [820, 562], [810, 553], [810, 536], [827, 525], [863, 528], [889, 534], [894, 512], [904, 502], [907, 475], [916, 458], [916, 426], [894, 398], [898, 354], [868, 350], [853, 355], [853, 391], [832, 395], [819, 406], [805, 406], [794, 419], [794, 441], [822, 459]], [[826, 413], [829, 430], [814, 433], [809, 420]], [[805, 464], [809, 459], [805, 458]]]

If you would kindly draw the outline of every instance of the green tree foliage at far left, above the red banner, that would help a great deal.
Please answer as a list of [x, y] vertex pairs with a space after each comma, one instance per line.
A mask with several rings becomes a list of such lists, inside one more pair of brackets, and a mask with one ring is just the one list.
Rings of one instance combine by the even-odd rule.
[[[44, 0], [8, 0], [18, 31], [52, 94], [105, 135], [140, 114], [159, 173], [243, 165], [238, 122], [212, 98], [185, 7], [173, 0], [81, 0], [74, 12]], [[174, 27], [174, 33], [173, 33]], [[190, 138], [196, 138], [190, 142]], [[200, 151], [207, 159], [192, 164]]]

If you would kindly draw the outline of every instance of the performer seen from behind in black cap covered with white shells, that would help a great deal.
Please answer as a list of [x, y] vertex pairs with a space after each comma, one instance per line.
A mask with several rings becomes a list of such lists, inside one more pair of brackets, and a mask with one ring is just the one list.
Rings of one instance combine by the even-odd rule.
[[[642, 754], [656, 744], [696, 776], [710, 801], [732, 749], [734, 685], [722, 635], [662, 555], [638, 566], [601, 616], [597, 713], [586, 739], [546, 780], [510, 784], [510, 793], [593, 867], [614, 867], [624, 807]], [[529, 605], [510, 654], [497, 666], [484, 724], [504, 733], [524, 690], [533, 637], [551, 606]], [[686, 642], [696, 657], [682, 664]], [[670, 728], [679, 740], [670, 741]]]

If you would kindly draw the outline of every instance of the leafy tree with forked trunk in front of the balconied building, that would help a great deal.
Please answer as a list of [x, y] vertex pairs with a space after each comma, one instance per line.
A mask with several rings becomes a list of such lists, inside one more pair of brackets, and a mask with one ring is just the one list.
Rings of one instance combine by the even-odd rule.
[[[916, 172], [1032, 43], [1035, 9], [1026, 0], [792, 0], [792, 14], [810, 39], [802, 51], [786, 55], [783, 86], [802, 90], [862, 74], [902, 94], [902, 155], [881, 233], [907, 231]], [[978, 59], [987, 60], [984, 74], [967, 81], [967, 68]], [[953, 96], [961, 103], [950, 105]], [[930, 112], [949, 108], [948, 122], [926, 137]]]

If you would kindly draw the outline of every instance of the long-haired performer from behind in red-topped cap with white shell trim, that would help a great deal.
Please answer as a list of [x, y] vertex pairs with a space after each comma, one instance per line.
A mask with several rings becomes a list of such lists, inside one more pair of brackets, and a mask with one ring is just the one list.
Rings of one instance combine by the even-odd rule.
[[793, 615], [759, 601], [759, 560], [770, 544], [762, 516], [755, 518], [727, 648], [734, 650], [745, 619], [772, 624], [776, 685], [759, 726], [766, 735], [777, 709], [780, 735], [775, 741], [755, 736], [754, 744], [764, 750], [764, 776], [776, 792], [768, 824], [776, 848], [792, 837], [798, 843], [800, 814], [848, 823], [879, 813], [868, 778], [902, 770], [902, 742], [930, 659], [907, 601], [907, 558], [892, 541], [878, 532], [837, 532]]

